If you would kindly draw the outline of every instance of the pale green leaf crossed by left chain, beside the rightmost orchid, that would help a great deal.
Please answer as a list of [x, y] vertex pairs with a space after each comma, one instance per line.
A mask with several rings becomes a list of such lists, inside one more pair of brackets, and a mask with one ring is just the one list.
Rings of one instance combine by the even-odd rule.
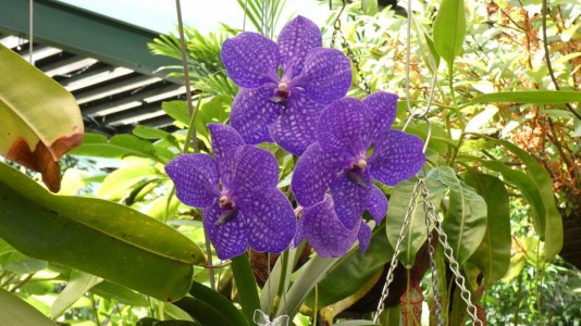
[[[425, 183], [429, 199], [432, 204], [437, 208], [446, 187], [434, 176], [436, 175], [431, 171], [428, 174]], [[411, 179], [399, 183], [394, 187], [390, 198], [390, 210], [387, 211], [387, 217], [385, 217], [387, 239], [390, 240], [392, 248], [395, 248], [408, 210], [411, 214], [408, 228], [404, 234], [404, 240], [398, 256], [399, 261], [406, 268], [411, 268], [416, 261], [416, 253], [418, 253], [418, 250], [420, 250], [420, 247], [428, 238], [423, 197], [418, 195], [410, 201], [412, 199], [415, 186], [416, 181], [415, 179]], [[419, 189], [417, 191], [419, 191]]]

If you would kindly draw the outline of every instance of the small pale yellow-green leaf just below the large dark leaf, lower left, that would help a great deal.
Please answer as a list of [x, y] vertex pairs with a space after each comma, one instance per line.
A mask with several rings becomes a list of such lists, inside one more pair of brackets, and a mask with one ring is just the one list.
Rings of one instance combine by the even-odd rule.
[[62, 315], [73, 303], [101, 280], [99, 277], [87, 273], [74, 273], [64, 290], [57, 297], [50, 308], [52, 318], [55, 319]]

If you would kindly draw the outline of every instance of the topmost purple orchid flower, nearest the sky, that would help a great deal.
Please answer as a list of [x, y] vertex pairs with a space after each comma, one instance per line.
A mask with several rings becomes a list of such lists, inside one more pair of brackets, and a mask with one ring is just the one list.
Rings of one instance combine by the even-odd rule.
[[319, 27], [302, 16], [284, 26], [277, 43], [251, 32], [224, 41], [222, 62], [242, 87], [231, 125], [247, 143], [274, 140], [300, 155], [313, 142], [319, 116], [353, 77], [349, 59], [321, 46]]

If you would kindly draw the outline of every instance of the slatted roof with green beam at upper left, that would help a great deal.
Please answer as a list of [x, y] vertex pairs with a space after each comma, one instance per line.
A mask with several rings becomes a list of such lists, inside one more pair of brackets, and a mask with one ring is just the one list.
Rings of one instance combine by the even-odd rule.
[[[28, 1], [1, 7], [0, 43], [28, 60]], [[87, 130], [173, 130], [161, 102], [185, 99], [185, 87], [158, 72], [180, 62], [149, 53], [157, 33], [49, 0], [35, 0], [34, 13], [33, 62], [75, 96]]]

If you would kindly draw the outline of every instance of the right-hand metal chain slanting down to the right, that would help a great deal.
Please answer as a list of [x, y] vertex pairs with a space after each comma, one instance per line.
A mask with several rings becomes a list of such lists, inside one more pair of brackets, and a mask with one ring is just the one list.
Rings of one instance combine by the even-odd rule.
[[[425, 192], [428, 190], [424, 189]], [[474, 304], [472, 304], [472, 296], [470, 294], [470, 291], [466, 288], [466, 279], [460, 273], [460, 265], [458, 264], [458, 261], [454, 258], [454, 249], [448, 243], [448, 236], [446, 236], [446, 233], [442, 228], [442, 224], [440, 223], [440, 220], [437, 218], [437, 215], [434, 214], [435, 212], [434, 205], [430, 201], [424, 201], [424, 203], [428, 204], [428, 215], [430, 215], [430, 218], [434, 222], [434, 227], [438, 234], [438, 240], [442, 246], [444, 246], [444, 255], [449, 261], [449, 267], [452, 269], [452, 273], [454, 273], [456, 285], [460, 288], [460, 297], [466, 302], [467, 311], [472, 317], [472, 321], [474, 322], [474, 325], [482, 326], [482, 321], [477, 315], [477, 308]]]

